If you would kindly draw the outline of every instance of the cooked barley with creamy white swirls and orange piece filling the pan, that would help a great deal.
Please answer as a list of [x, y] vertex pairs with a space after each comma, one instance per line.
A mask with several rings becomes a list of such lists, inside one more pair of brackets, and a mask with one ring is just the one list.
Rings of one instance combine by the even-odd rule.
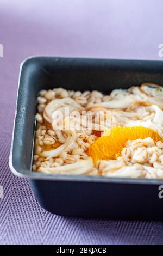
[[42, 90], [33, 170], [163, 179], [163, 91], [144, 83], [109, 95]]

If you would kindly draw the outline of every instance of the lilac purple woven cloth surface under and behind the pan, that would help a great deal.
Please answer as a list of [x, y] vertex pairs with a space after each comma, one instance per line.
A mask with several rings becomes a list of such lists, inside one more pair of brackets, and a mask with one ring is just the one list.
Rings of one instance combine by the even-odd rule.
[[32, 55], [161, 59], [162, 7], [161, 0], [0, 0], [0, 244], [163, 244], [162, 222], [49, 214], [28, 181], [8, 167], [22, 60]]

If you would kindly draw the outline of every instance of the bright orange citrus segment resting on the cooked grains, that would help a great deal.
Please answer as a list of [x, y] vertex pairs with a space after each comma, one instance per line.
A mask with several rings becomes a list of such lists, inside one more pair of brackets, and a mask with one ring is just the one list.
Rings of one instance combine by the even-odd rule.
[[146, 127], [114, 127], [104, 131], [104, 135], [90, 145], [87, 153], [95, 162], [116, 159], [116, 156], [126, 147], [128, 140], [145, 139], [147, 137], [151, 137], [154, 142], [162, 141], [158, 132]]

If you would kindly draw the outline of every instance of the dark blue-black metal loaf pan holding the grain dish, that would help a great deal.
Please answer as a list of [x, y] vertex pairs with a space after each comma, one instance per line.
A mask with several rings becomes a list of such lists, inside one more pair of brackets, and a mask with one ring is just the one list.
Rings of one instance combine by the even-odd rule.
[[32, 171], [36, 97], [41, 89], [128, 88], [143, 82], [163, 85], [163, 62], [148, 60], [30, 57], [20, 69], [9, 165], [27, 178], [49, 212], [73, 217], [163, 220], [163, 180], [48, 175]]

